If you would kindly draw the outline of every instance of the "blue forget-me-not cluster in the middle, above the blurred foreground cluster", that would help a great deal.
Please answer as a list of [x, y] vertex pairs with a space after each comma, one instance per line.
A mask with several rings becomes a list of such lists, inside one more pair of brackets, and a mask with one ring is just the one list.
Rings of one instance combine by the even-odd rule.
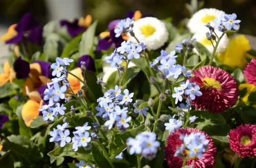
[[[129, 93], [129, 90], [124, 89], [121, 94], [121, 89], [116, 85], [115, 89], [110, 89], [104, 93], [104, 97], [97, 99], [99, 106], [96, 107], [98, 113], [96, 116], [100, 116], [103, 120], [106, 120], [105, 126], [109, 129], [116, 124], [117, 128], [123, 132], [129, 127], [128, 122], [131, 121], [131, 117], [127, 117], [128, 106], [133, 101], [134, 93]], [[123, 106], [123, 107], [121, 107]]]

